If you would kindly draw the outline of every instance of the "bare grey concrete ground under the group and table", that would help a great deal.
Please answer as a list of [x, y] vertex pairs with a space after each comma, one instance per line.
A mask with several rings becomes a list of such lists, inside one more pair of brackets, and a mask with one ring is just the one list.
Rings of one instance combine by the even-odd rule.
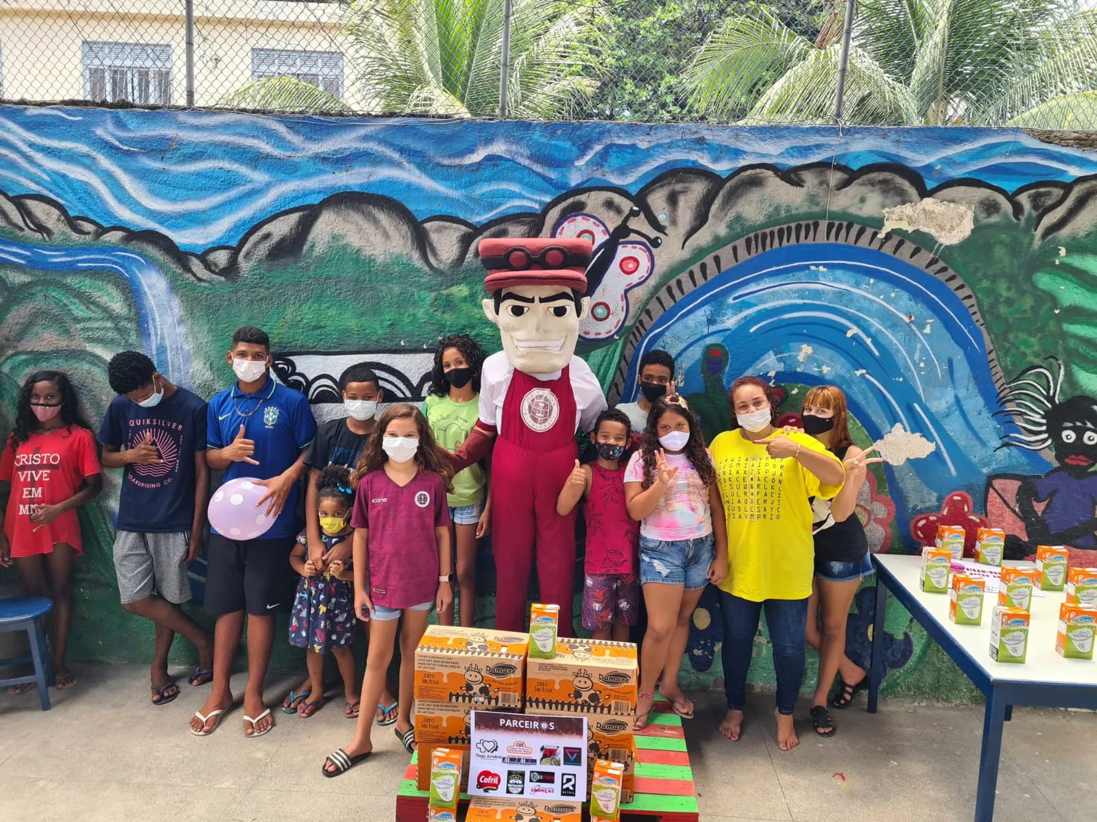
[[[335, 701], [309, 719], [275, 711], [274, 730], [260, 739], [245, 738], [238, 708], [200, 739], [188, 732], [186, 720], [206, 688], [183, 680], [180, 697], [161, 708], [148, 701], [145, 667], [80, 665], [77, 672], [77, 687], [50, 692], [48, 712], [37, 709], [34, 693], [0, 692], [0, 820], [394, 819], [407, 756], [391, 729], [377, 729], [369, 763], [336, 779], [320, 775], [324, 756], [352, 732], [341, 688], [329, 692]], [[242, 675], [233, 684], [241, 696]], [[296, 684], [279, 678], [268, 698]], [[717, 695], [701, 695], [698, 719], [687, 723], [703, 822], [972, 819], [982, 708], [884, 701], [870, 717], [861, 697], [855, 708], [835, 711], [836, 737], [815, 739], [803, 719], [801, 746], [782, 753], [771, 697], [753, 699], [737, 744], [715, 731], [720, 707]], [[1086, 817], [1095, 739], [1093, 713], [1015, 711], [995, 820]]]

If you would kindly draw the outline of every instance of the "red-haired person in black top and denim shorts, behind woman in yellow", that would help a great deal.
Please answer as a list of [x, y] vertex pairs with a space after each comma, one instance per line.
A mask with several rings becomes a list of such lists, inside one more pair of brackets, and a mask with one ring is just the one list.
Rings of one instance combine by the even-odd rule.
[[856, 513], [864, 483], [864, 452], [853, 445], [847, 424], [846, 395], [835, 386], [817, 386], [804, 397], [804, 432], [823, 443], [846, 468], [846, 483], [833, 500], [815, 499], [815, 580], [807, 601], [807, 642], [819, 652], [819, 676], [812, 701], [812, 720], [821, 737], [833, 737], [826, 703], [836, 674], [840, 692], [832, 703], [845, 708], [868, 687], [868, 674], [846, 657], [846, 620], [861, 578], [872, 573], [869, 543]]

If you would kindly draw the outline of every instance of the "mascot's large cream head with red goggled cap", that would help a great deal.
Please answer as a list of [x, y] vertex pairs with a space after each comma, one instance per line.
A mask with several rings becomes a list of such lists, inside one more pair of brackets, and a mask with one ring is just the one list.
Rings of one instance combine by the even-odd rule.
[[490, 238], [480, 240], [488, 269], [484, 313], [499, 327], [507, 359], [525, 374], [562, 370], [575, 354], [579, 320], [589, 299], [589, 240]]

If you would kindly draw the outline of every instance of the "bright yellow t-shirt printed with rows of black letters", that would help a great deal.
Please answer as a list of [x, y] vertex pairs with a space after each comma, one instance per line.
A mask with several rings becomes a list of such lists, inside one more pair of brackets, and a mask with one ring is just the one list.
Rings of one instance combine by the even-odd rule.
[[[804, 449], [828, 454], [815, 437], [788, 436]], [[709, 450], [727, 520], [728, 573], [720, 587], [751, 602], [810, 596], [815, 544], [808, 500], [829, 500], [841, 486], [821, 483], [792, 457], [773, 459], [738, 430], [720, 434]]]

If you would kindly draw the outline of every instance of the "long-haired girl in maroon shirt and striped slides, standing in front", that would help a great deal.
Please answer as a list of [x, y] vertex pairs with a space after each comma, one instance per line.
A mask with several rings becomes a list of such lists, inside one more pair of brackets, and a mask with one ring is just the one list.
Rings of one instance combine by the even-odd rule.
[[[354, 610], [370, 621], [370, 649], [362, 704], [375, 705], [385, 686], [397, 637], [400, 643], [399, 713], [396, 737], [415, 750], [411, 724], [415, 649], [432, 608], [453, 603], [450, 507], [453, 466], [438, 447], [430, 425], [406, 403], [388, 408], [352, 476], [354, 513]], [[404, 628], [398, 630], [400, 615]], [[338, 776], [373, 752], [373, 715], [361, 711], [353, 741], [324, 762]]]

